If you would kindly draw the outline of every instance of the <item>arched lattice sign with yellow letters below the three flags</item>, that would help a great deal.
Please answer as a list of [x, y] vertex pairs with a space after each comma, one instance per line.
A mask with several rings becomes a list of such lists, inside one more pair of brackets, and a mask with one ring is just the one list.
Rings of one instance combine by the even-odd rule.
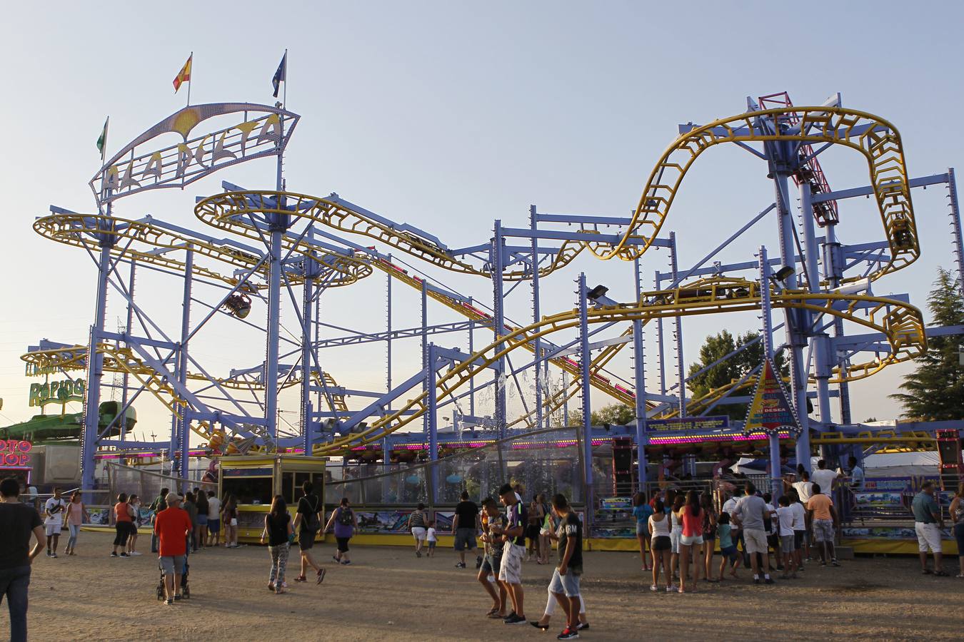
[[[202, 121], [241, 114], [236, 125], [188, 140]], [[168, 116], [115, 154], [91, 179], [97, 204], [159, 188], [181, 188], [222, 167], [284, 151], [300, 116], [251, 103], [192, 105]], [[145, 143], [176, 133], [182, 141], [143, 151]]]

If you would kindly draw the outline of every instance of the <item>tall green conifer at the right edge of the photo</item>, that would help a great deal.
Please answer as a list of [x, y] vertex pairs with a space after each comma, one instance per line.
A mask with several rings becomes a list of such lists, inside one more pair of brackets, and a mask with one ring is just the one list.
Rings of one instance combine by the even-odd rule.
[[[964, 324], [964, 299], [951, 270], [938, 268], [933, 285], [927, 297], [933, 318], [930, 325]], [[903, 406], [905, 417], [930, 421], [964, 418], [964, 366], [958, 356], [961, 347], [961, 335], [927, 339], [927, 351], [915, 359], [917, 370], [906, 375], [900, 384], [904, 392], [890, 395]]]

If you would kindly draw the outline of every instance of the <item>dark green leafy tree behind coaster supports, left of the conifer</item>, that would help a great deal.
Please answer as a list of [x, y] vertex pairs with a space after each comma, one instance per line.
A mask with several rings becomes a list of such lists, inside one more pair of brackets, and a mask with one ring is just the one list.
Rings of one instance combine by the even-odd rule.
[[[689, 377], [691, 378], [686, 385], [692, 396], [694, 398], [702, 397], [710, 390], [727, 386], [731, 381], [743, 377], [747, 372], [752, 372], [754, 368], [759, 366], [763, 362], [763, 342], [753, 343], [758, 337], [760, 337], [760, 333], [752, 330], [736, 337], [729, 330], [723, 330], [718, 334], [707, 337], [703, 346], [700, 347], [700, 360], [689, 366]], [[747, 346], [747, 344], [752, 345]], [[744, 346], [747, 347], [741, 352], [713, 366], [706, 372], [696, 374], [711, 363]], [[778, 352], [773, 361], [781, 375], [784, 377], [790, 376], [790, 367], [782, 352]], [[742, 421], [746, 418], [746, 405], [745, 403], [723, 403], [714, 406], [711, 412], [714, 415], [729, 415], [730, 419]]]

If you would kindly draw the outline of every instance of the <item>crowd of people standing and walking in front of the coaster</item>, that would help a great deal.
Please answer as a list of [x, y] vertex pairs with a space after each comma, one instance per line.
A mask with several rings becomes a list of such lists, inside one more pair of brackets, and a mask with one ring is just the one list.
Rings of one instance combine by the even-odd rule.
[[[811, 562], [839, 567], [834, 536], [839, 513], [832, 499], [834, 483], [840, 475], [827, 471], [821, 461], [813, 474], [799, 471], [788, 481], [778, 501], [746, 482], [728, 493], [719, 510], [709, 493], [675, 488], [657, 491], [647, 498], [637, 493], [632, 500], [636, 536], [642, 570], [652, 574], [651, 591], [691, 593], [701, 582], [716, 583], [739, 577], [741, 567], [749, 567], [754, 583], [771, 584], [771, 574], [798, 578]], [[822, 483], [821, 483], [822, 482]], [[824, 485], [825, 484], [825, 485]], [[282, 496], [272, 501], [265, 514], [261, 543], [267, 544], [271, 559], [268, 589], [286, 592], [286, 567], [290, 548], [298, 544], [301, 568], [296, 582], [308, 581], [308, 569], [315, 583], [326, 575], [325, 568], [312, 556], [319, 530], [334, 530], [336, 548], [333, 560], [350, 565], [349, 541], [358, 529], [358, 518], [350, 501], [342, 499], [332, 511], [324, 528], [324, 505], [305, 482], [294, 519]], [[6, 597], [11, 612], [13, 640], [26, 639], [27, 586], [30, 564], [46, 549], [57, 557], [58, 540], [66, 525], [69, 530], [64, 554], [76, 554], [80, 525], [89, 521], [87, 506], [79, 493], [65, 499], [60, 489], [43, 502], [42, 517], [29, 503], [19, 501], [20, 485], [14, 478], [0, 483], [0, 598]], [[563, 495], [546, 501], [544, 494], [532, 501], [522, 500], [522, 487], [504, 484], [497, 501], [485, 498], [481, 507], [463, 493], [452, 517], [454, 551], [458, 568], [467, 568], [466, 554], [474, 553], [477, 581], [491, 599], [487, 616], [506, 625], [530, 624], [546, 630], [556, 607], [566, 617], [558, 639], [574, 639], [588, 629], [585, 602], [580, 589], [583, 574], [583, 526], [576, 511]], [[183, 496], [161, 489], [149, 504], [152, 523], [151, 552], [158, 555], [163, 577], [164, 602], [183, 599], [182, 577], [187, 555], [205, 548], [221, 546], [224, 529], [226, 548], [237, 548], [237, 501], [228, 495], [219, 500], [213, 491], [200, 488]], [[911, 504], [918, 535], [922, 573], [938, 577], [949, 575], [942, 567], [942, 510], [935, 500], [934, 484], [924, 481]], [[950, 515], [958, 551], [964, 553], [964, 483], [951, 501]], [[136, 551], [141, 502], [136, 495], [121, 493], [113, 506], [116, 536], [112, 557], [130, 557]], [[409, 516], [409, 530], [415, 538], [415, 555], [433, 556], [438, 542], [436, 523], [423, 504]], [[482, 545], [477, 546], [481, 533]], [[30, 538], [36, 540], [31, 548]], [[526, 547], [528, 540], [528, 547]], [[538, 620], [525, 615], [522, 588], [523, 562], [549, 563], [556, 544], [555, 568], [548, 585], [548, 602]], [[716, 545], [720, 560], [714, 560]], [[119, 552], [120, 551], [120, 552]], [[928, 552], [933, 554], [933, 569], [928, 568]], [[816, 555], [816, 556], [815, 556]], [[964, 554], [959, 554], [964, 578]]]

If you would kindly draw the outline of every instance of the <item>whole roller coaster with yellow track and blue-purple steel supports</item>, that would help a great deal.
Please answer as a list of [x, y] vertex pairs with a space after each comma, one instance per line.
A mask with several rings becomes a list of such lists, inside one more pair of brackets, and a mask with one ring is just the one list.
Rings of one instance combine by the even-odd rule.
[[[777, 104], [777, 107], [761, 108]], [[190, 139], [211, 118], [242, 115], [240, 124]], [[582, 448], [591, 459], [593, 426], [589, 391], [595, 389], [629, 406], [635, 419], [627, 427], [638, 448], [637, 479], [646, 476], [647, 423], [653, 420], [700, 417], [721, 402], [745, 402], [758, 371], [699, 398], [687, 398], [683, 372], [683, 318], [749, 312], [762, 316], [765, 353], [784, 350], [789, 356], [791, 401], [799, 424], [793, 433], [797, 459], [809, 465], [811, 434], [844, 439], [849, 416], [848, 384], [884, 368], [920, 356], [929, 333], [920, 310], [906, 295], [878, 296], [871, 285], [912, 264], [921, 247], [911, 190], [944, 184], [950, 196], [952, 251], [958, 271], [964, 268], [964, 248], [952, 169], [912, 178], [904, 161], [897, 129], [887, 120], [841, 106], [839, 94], [821, 106], [793, 106], [787, 94], [748, 100], [747, 111], [706, 125], [682, 125], [679, 136], [659, 157], [629, 218], [558, 215], [530, 209], [529, 225], [505, 227], [495, 221], [493, 238], [482, 244], [452, 248], [434, 235], [402, 224], [341, 198], [336, 193], [313, 196], [288, 191], [283, 179], [283, 154], [300, 116], [281, 106], [214, 103], [188, 106], [150, 128], [100, 167], [91, 181], [97, 211], [80, 214], [51, 206], [37, 218], [41, 237], [83, 249], [98, 268], [94, 323], [86, 345], [40, 342], [23, 355], [35, 372], [86, 372], [84, 422], [80, 432], [85, 487], [93, 487], [98, 449], [156, 450], [170, 453], [186, 476], [189, 431], [197, 434], [212, 456], [235, 451], [287, 449], [316, 455], [348, 456], [369, 444], [383, 447], [388, 461], [389, 440], [416, 420], [428, 443], [428, 457], [437, 460], [440, 408], [453, 404], [465, 425], [482, 426], [502, 439], [515, 431], [550, 427], [550, 417], [581, 400]], [[257, 131], [256, 137], [254, 132]], [[172, 134], [181, 141], [161, 149], [146, 146]], [[205, 141], [217, 141], [208, 144]], [[678, 268], [675, 234], [660, 237], [680, 193], [683, 177], [707, 149], [730, 142], [767, 165], [774, 202], [743, 225], [723, 244], [689, 270]], [[868, 163], [870, 183], [839, 192], [830, 190], [818, 156], [833, 146], [860, 152]], [[151, 189], [187, 185], [223, 168], [254, 159], [277, 160], [274, 190], [248, 190], [224, 182], [223, 193], [199, 197], [196, 218], [214, 235], [144, 217], [114, 216], [121, 197]], [[796, 185], [799, 209], [791, 206], [790, 182]], [[882, 242], [845, 245], [837, 239], [839, 202], [872, 196], [882, 224]], [[767, 258], [760, 247], [756, 260], [742, 264], [707, 264], [761, 220], [776, 219], [779, 258]], [[823, 232], [817, 237], [817, 227]], [[615, 233], [610, 231], [615, 229]], [[802, 236], [802, 242], [800, 237]], [[608, 298], [602, 286], [590, 289], [580, 274], [576, 306], [541, 314], [540, 279], [569, 267], [584, 250], [599, 259], [618, 258], [632, 264], [629, 278], [637, 295], [628, 302]], [[668, 252], [671, 270], [656, 271], [656, 288], [641, 285], [640, 265], [646, 255]], [[398, 257], [415, 262], [406, 264]], [[119, 267], [129, 268], [126, 283]], [[451, 273], [482, 280], [492, 287], [493, 305], [454, 292], [433, 275]], [[774, 268], [778, 269], [775, 270]], [[155, 270], [183, 281], [180, 335], [166, 332], [136, 302], [135, 275]], [[411, 271], [410, 271], [411, 270]], [[382, 333], [352, 331], [342, 337], [319, 337], [319, 301], [329, 288], [348, 287], [376, 272], [386, 276], [388, 328]], [[746, 272], [750, 272], [747, 274]], [[505, 314], [506, 285], [531, 284], [532, 320], [511, 321]], [[419, 327], [391, 327], [391, 283], [398, 282], [421, 296]], [[962, 279], [964, 282], [964, 279]], [[214, 290], [216, 302], [201, 302], [195, 286]], [[107, 292], [120, 294], [127, 323], [121, 331], [106, 327]], [[285, 328], [282, 338], [282, 292], [290, 295], [297, 328]], [[511, 292], [511, 290], [510, 290]], [[263, 301], [263, 322], [249, 318], [252, 299]], [[454, 311], [465, 321], [429, 325], [429, 301]], [[206, 308], [202, 321], [192, 320], [192, 303]], [[786, 343], [774, 347], [770, 317], [782, 311]], [[191, 355], [189, 343], [215, 316], [225, 316], [265, 333], [262, 363], [215, 376]], [[257, 317], [257, 315], [255, 315]], [[675, 326], [676, 384], [666, 382], [664, 322]], [[133, 330], [135, 323], [140, 330]], [[643, 332], [656, 326], [658, 392], [646, 390]], [[863, 328], [853, 335], [845, 330]], [[609, 329], [619, 332], [598, 339]], [[946, 333], [962, 328], [945, 328]], [[466, 332], [469, 348], [437, 346], [433, 335]], [[478, 332], [492, 341], [474, 346]], [[576, 336], [573, 339], [573, 336]], [[401, 383], [392, 381], [393, 341], [420, 339], [422, 363]], [[353, 391], [328, 372], [324, 349], [384, 342], [388, 376], [383, 391]], [[292, 349], [281, 354], [281, 344]], [[632, 347], [633, 379], [610, 372], [616, 356]], [[808, 355], [804, 357], [804, 349]], [[595, 354], [594, 354], [595, 353]], [[527, 355], [522, 366], [511, 358]], [[730, 357], [732, 355], [728, 355]], [[286, 364], [284, 359], [293, 358]], [[550, 367], [563, 372], [563, 383], [550, 390]], [[670, 366], [673, 369], [673, 365]], [[759, 369], [758, 369], [759, 370]], [[507, 388], [520, 375], [534, 372], [531, 407], [508, 416]], [[120, 376], [122, 409], [113, 422], [98, 422], [96, 408], [103, 375]], [[568, 377], [572, 377], [569, 379]], [[133, 383], [132, 383], [133, 381]], [[836, 386], [840, 421], [832, 420], [830, 386]], [[299, 422], [284, 428], [279, 421], [279, 391], [301, 392]], [[401, 401], [413, 389], [420, 392]], [[808, 388], [814, 390], [808, 392]], [[491, 417], [474, 409], [480, 390], [494, 397]], [[141, 393], [158, 399], [172, 416], [171, 439], [132, 439], [117, 422], [122, 411]], [[204, 393], [203, 395], [201, 393]], [[242, 399], [242, 393], [252, 398]], [[366, 399], [360, 407], [356, 398]], [[469, 413], [459, 400], [469, 398]], [[809, 417], [809, 398], [817, 399], [817, 419]], [[256, 408], [249, 412], [249, 408]], [[516, 427], [522, 426], [522, 427]], [[867, 432], [866, 430], [864, 432]], [[863, 433], [862, 433], [863, 434]], [[917, 434], [917, 433], [916, 433]], [[888, 439], [895, 435], [888, 433]], [[918, 437], [921, 435], [918, 434]], [[872, 437], [872, 435], [871, 435]], [[770, 436], [772, 456], [779, 456], [778, 436]], [[815, 444], [815, 445], [816, 445]], [[243, 449], [241, 446], [243, 445]], [[176, 456], [176, 453], [182, 453]], [[176, 472], [176, 471], [175, 471]], [[584, 483], [591, 485], [591, 466], [584, 466]]]

